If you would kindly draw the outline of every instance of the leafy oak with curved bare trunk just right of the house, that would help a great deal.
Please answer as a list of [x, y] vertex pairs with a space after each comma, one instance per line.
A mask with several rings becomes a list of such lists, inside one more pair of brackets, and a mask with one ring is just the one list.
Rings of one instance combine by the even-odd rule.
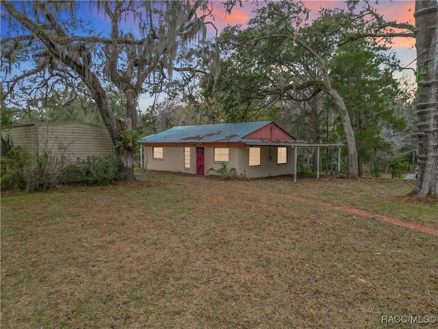
[[[229, 66], [237, 73], [232, 76], [237, 90], [247, 86], [246, 96], [240, 93], [244, 99], [263, 99], [266, 105], [285, 98], [309, 101], [321, 91], [333, 99], [348, 147], [350, 178], [359, 177], [357, 142], [348, 107], [333, 86], [331, 60], [339, 47], [363, 38], [363, 31], [374, 42], [372, 34], [388, 28], [368, 3], [361, 10], [356, 7], [357, 1], [347, 1], [346, 8], [324, 9], [309, 21], [302, 3], [268, 1], [255, 10], [248, 28], [234, 27], [221, 36], [227, 41]], [[240, 101], [231, 89], [225, 95]]]

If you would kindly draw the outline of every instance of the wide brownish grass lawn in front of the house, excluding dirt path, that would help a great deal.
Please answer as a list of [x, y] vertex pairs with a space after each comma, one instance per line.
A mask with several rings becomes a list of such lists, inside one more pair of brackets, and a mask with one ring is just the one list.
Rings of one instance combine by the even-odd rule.
[[432, 328], [438, 228], [407, 180], [139, 182], [1, 196], [1, 328]]

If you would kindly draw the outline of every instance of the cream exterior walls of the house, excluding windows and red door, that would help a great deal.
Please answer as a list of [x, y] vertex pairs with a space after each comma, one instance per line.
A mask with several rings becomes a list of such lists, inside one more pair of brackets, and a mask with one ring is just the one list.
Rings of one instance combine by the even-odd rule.
[[[249, 166], [250, 147], [229, 147], [229, 169], [248, 178], [287, 175], [294, 173], [294, 150], [287, 147], [287, 163], [277, 164], [277, 147], [265, 146], [260, 149], [260, 165]], [[214, 161], [214, 147], [204, 146], [205, 174], [211, 168], [219, 169], [222, 162]], [[163, 159], [153, 158], [153, 147], [144, 147], [144, 169], [175, 171], [196, 174], [196, 147], [190, 147], [190, 169], [184, 169], [184, 147], [163, 147]]]

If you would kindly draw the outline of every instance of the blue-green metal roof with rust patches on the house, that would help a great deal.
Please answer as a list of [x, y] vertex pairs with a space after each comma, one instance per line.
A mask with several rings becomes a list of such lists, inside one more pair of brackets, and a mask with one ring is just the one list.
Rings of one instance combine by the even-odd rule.
[[247, 139], [244, 136], [269, 125], [273, 121], [219, 123], [216, 125], [187, 125], [145, 136], [141, 143], [296, 143], [291, 140]]

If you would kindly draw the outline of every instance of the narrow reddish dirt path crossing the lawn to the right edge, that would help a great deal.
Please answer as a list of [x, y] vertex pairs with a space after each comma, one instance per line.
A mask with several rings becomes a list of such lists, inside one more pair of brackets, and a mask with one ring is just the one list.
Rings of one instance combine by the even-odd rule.
[[[263, 190], [262, 188], [254, 187], [253, 189], [259, 193], [266, 192], [266, 190]], [[361, 210], [361, 209], [357, 209], [357, 208], [351, 208], [348, 206], [341, 206], [338, 204], [331, 204], [329, 202], [322, 202], [322, 201], [315, 200], [315, 199], [307, 199], [305, 197], [298, 197], [296, 195], [285, 195], [283, 193], [276, 193], [275, 191], [270, 191], [270, 193], [273, 193], [276, 195], [281, 195], [283, 197], [287, 197], [289, 199], [294, 199], [294, 200], [297, 200], [300, 202], [308, 202], [311, 204], [318, 204], [319, 206], [326, 206], [326, 207], [333, 208], [336, 210], [342, 210], [342, 211], [348, 212], [352, 215], [357, 215], [357, 216], [362, 216], [362, 217], [370, 217], [372, 219], [378, 219], [380, 221], [385, 221], [387, 223], [390, 223], [390, 224], [393, 224], [396, 226], [401, 226], [402, 228], [410, 228], [411, 230], [417, 230], [420, 232], [425, 232], [425, 233], [434, 234], [434, 235], [438, 236], [438, 230], [436, 228], [430, 228], [429, 226], [424, 226], [424, 225], [415, 224], [415, 223], [409, 223], [408, 221], [402, 221], [402, 220], [396, 219], [394, 217], [379, 215], [379, 214], [376, 214], [374, 212], [369, 212], [369, 211]]]

